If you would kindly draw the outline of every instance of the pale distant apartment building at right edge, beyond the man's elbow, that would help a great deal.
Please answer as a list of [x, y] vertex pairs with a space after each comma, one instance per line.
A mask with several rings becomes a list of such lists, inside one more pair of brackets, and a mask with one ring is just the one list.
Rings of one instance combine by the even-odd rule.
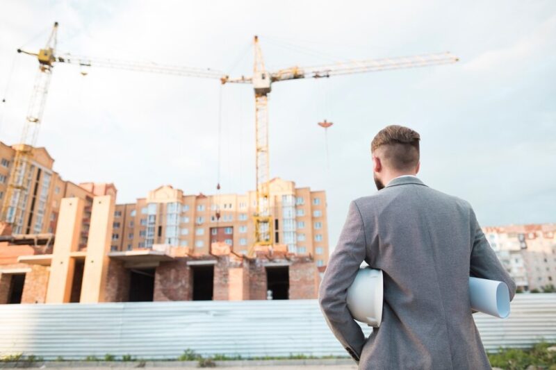
[[556, 285], [556, 224], [482, 229], [496, 255], [523, 291]]

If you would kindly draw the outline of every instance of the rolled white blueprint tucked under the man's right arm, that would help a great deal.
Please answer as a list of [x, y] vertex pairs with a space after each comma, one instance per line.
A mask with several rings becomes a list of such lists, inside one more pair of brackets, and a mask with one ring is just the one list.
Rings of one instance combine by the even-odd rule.
[[502, 281], [469, 278], [469, 298], [475, 311], [500, 319], [509, 315], [509, 290]]

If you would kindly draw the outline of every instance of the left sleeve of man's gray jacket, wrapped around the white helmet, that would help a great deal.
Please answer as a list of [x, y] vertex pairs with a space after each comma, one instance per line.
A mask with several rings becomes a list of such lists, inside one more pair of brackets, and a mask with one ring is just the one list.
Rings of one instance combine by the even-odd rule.
[[363, 330], [347, 309], [346, 297], [366, 256], [363, 219], [352, 201], [338, 244], [329, 258], [318, 289], [318, 303], [332, 333], [359, 363], [365, 342]]

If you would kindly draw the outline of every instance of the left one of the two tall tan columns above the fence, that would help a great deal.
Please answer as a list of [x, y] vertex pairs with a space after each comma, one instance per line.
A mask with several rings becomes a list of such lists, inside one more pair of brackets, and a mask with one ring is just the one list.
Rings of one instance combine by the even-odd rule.
[[84, 207], [85, 202], [78, 198], [64, 198], [60, 202], [46, 303], [70, 301], [75, 265], [70, 253], [79, 247]]

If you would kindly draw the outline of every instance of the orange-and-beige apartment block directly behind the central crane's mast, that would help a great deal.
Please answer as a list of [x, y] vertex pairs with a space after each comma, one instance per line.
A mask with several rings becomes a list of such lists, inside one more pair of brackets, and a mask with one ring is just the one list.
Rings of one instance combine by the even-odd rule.
[[[198, 255], [211, 244], [227, 244], [247, 254], [254, 243], [256, 193], [184, 194], [170, 185], [158, 187], [136, 203], [116, 205], [112, 251], [149, 249], [154, 244], [189, 247]], [[270, 181], [270, 210], [276, 244], [289, 253], [312, 255], [318, 267], [328, 262], [326, 193], [295, 187], [293, 181]]]

